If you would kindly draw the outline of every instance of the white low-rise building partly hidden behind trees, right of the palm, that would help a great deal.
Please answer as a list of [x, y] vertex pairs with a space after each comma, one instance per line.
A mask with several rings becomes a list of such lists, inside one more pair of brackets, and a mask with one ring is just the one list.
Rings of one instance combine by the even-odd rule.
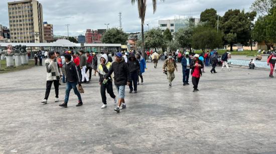
[[199, 18], [177, 16], [175, 19], [158, 20], [158, 24], [163, 31], [169, 28], [171, 32], [174, 33], [177, 32], [180, 28], [187, 27], [189, 23], [197, 25], [199, 21]]

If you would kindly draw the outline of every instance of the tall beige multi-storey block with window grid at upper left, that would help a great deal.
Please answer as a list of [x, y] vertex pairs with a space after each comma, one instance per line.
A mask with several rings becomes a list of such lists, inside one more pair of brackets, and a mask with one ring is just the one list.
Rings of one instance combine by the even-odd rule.
[[8, 2], [12, 42], [43, 42], [42, 4], [37, 0]]

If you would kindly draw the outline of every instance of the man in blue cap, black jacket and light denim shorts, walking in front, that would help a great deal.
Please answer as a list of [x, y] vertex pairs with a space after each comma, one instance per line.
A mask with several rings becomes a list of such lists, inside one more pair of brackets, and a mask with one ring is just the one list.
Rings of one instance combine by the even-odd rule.
[[125, 90], [125, 85], [126, 84], [129, 85], [131, 80], [127, 63], [122, 58], [121, 52], [117, 52], [115, 54], [115, 61], [112, 63], [108, 73], [104, 77], [105, 80], [108, 79], [108, 77], [110, 77], [110, 75], [113, 72], [114, 72], [114, 84], [119, 93], [118, 106], [114, 108], [114, 110], [117, 112], [120, 112], [121, 104], [122, 104], [122, 109], [126, 107], [126, 104], [124, 101], [124, 90]]

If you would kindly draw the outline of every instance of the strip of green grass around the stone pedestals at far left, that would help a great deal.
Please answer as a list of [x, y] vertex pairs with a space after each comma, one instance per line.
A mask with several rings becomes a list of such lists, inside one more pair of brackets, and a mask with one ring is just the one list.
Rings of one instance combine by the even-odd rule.
[[[15, 64], [15, 62], [14, 62], [14, 64]], [[34, 66], [35, 66], [35, 60], [34, 59], [30, 59], [28, 65], [22, 65], [22, 66], [18, 66], [18, 67], [14, 66], [14, 67], [11, 67], [11, 68], [7, 68], [6, 60], [1, 60], [0, 73], [24, 70], [24, 69], [32, 68]]]

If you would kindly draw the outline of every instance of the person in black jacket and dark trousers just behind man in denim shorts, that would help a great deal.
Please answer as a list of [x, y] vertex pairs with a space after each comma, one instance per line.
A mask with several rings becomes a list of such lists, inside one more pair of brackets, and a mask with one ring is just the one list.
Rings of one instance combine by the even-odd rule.
[[[136, 59], [134, 53], [131, 53], [129, 55], [127, 60], [127, 65], [128, 65], [128, 69], [131, 77], [131, 81], [129, 85], [129, 93], [133, 91], [133, 86], [134, 86], [134, 93], [137, 93], [137, 78], [138, 78], [138, 73], [140, 73], [140, 63]], [[132, 86], [132, 82], [133, 82], [133, 86]]]

